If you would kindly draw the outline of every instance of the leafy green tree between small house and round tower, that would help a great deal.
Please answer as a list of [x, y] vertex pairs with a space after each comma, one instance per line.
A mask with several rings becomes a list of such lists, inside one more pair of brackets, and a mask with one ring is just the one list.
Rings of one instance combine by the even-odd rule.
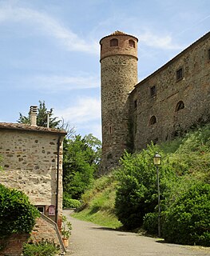
[[63, 187], [65, 196], [80, 199], [93, 181], [100, 159], [101, 142], [92, 134], [65, 139], [63, 158]]

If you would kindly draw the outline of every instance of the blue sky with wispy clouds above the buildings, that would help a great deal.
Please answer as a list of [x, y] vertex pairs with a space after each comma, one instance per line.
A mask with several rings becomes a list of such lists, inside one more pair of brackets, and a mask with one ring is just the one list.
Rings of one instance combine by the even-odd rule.
[[77, 134], [101, 138], [100, 39], [139, 38], [141, 81], [209, 27], [209, 0], [0, 0], [0, 122], [41, 100]]

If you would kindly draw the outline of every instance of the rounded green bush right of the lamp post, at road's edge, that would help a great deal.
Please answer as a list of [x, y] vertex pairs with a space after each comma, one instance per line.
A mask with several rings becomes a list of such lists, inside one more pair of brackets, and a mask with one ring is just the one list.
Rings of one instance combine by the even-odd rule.
[[196, 184], [165, 213], [166, 242], [210, 246], [210, 185]]

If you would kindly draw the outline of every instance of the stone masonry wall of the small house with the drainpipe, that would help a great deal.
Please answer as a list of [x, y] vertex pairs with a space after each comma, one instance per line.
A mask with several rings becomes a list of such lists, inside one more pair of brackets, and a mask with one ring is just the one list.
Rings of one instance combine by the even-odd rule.
[[[35, 206], [56, 205], [57, 134], [0, 129], [3, 171], [0, 182], [24, 191]], [[61, 141], [62, 142], [62, 141]], [[58, 216], [62, 213], [62, 146], [59, 161]], [[46, 215], [48, 212], [46, 211]], [[50, 217], [54, 221], [54, 217]]]

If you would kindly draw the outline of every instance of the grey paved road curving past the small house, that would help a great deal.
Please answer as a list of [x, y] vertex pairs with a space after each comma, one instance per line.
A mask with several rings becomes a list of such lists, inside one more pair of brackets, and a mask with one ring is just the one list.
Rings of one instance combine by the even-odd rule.
[[67, 256], [210, 256], [210, 248], [179, 246], [160, 239], [139, 236], [129, 232], [110, 230], [69, 216], [73, 230]]

